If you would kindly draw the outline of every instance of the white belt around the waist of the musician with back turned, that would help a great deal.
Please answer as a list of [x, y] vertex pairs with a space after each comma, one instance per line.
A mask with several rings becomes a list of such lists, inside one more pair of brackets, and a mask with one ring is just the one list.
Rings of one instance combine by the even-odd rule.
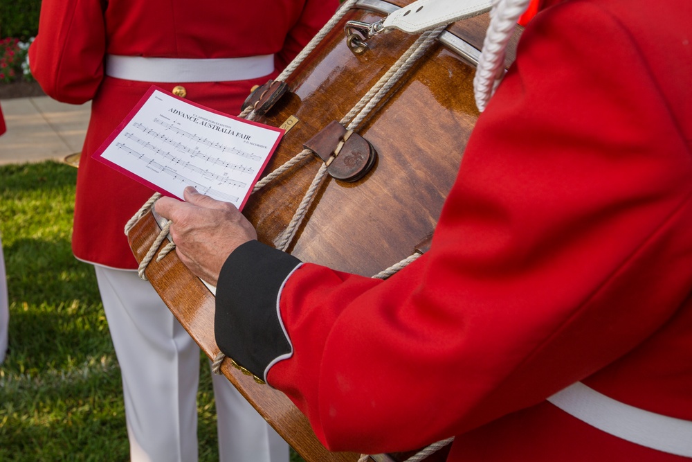
[[106, 55], [106, 75], [137, 82], [228, 82], [264, 77], [274, 71], [274, 55], [183, 59]]

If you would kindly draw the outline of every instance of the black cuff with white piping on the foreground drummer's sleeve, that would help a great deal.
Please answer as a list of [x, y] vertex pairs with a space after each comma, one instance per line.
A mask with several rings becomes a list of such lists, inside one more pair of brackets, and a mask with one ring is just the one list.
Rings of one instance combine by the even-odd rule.
[[291, 353], [278, 314], [278, 294], [300, 260], [256, 240], [230, 254], [219, 274], [214, 333], [221, 351], [264, 378], [267, 366]]

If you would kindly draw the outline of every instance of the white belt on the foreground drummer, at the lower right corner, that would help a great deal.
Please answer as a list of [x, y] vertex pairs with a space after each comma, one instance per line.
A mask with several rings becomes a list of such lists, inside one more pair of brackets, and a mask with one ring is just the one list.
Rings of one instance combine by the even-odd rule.
[[641, 446], [692, 457], [692, 422], [645, 411], [608, 398], [581, 382], [548, 398], [592, 427]]

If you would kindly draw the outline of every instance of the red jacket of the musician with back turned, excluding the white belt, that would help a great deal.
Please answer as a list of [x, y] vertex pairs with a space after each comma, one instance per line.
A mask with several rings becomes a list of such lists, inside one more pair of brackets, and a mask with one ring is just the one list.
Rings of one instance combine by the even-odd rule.
[[[154, 193], [91, 154], [154, 84], [104, 76], [104, 55], [225, 58], [276, 53], [277, 71], [334, 14], [336, 0], [44, 0], [31, 70], [46, 94], [65, 103], [92, 100], [80, 159], [73, 251], [82, 260], [136, 268], [124, 226]], [[237, 115], [253, 85], [273, 75], [183, 83], [190, 100]]]

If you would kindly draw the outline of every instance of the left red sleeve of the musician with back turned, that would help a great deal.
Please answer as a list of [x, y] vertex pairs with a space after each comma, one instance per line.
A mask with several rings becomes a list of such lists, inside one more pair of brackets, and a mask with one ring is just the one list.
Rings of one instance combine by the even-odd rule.
[[44, 0], [29, 48], [31, 73], [48, 96], [82, 104], [103, 78], [106, 32], [101, 1]]

